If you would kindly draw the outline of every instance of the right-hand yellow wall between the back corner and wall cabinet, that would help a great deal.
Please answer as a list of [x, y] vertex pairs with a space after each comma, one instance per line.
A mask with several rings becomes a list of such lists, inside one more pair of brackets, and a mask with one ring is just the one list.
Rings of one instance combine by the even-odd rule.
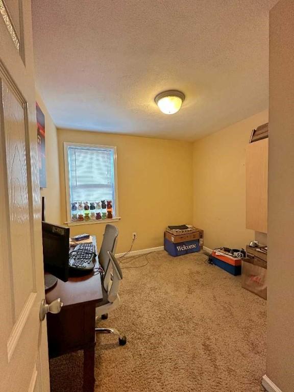
[[193, 143], [193, 224], [210, 249], [244, 248], [254, 239], [245, 228], [245, 147], [267, 121], [263, 111]]

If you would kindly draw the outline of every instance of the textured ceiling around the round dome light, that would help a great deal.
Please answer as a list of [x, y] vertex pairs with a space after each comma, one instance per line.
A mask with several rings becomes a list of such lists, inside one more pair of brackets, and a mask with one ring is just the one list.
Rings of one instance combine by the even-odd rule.
[[[277, 0], [32, 0], [37, 87], [60, 128], [194, 140], [268, 106]], [[186, 95], [162, 114], [167, 89]]]

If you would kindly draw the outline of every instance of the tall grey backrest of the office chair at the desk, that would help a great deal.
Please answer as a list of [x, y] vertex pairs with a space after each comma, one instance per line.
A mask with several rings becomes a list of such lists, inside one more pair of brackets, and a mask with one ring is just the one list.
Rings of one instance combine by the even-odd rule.
[[107, 290], [108, 283], [111, 280], [111, 269], [112, 269], [112, 268], [108, 268], [108, 266], [110, 266], [110, 256], [108, 252], [115, 253], [117, 236], [118, 236], [117, 227], [107, 224], [105, 226], [103, 241], [98, 256], [99, 264], [102, 266], [105, 273], [103, 278], [103, 285], [105, 290]]

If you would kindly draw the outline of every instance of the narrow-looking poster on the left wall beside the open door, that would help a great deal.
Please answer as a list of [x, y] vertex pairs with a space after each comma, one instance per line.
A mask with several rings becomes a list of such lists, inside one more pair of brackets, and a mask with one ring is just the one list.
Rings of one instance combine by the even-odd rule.
[[36, 102], [40, 188], [46, 187], [45, 116]]

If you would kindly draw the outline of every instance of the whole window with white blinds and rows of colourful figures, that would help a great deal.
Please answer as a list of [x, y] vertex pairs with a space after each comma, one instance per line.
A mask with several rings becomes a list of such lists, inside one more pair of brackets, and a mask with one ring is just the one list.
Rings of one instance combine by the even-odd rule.
[[118, 219], [116, 148], [64, 143], [67, 221]]

